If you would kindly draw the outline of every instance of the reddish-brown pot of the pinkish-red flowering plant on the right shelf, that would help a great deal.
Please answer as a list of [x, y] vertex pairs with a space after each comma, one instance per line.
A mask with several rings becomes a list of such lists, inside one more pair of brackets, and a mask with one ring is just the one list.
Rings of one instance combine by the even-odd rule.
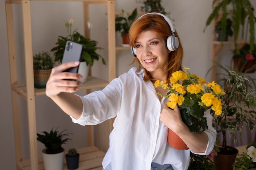
[[251, 68], [252, 66], [255, 65], [255, 60], [249, 60], [247, 61], [247, 63], [245, 64], [244, 62], [242, 62], [241, 58], [234, 58], [234, 67], [235, 70], [238, 70], [242, 73], [254, 73], [256, 71], [256, 69], [251, 70], [251, 71], [247, 71], [249, 68]]

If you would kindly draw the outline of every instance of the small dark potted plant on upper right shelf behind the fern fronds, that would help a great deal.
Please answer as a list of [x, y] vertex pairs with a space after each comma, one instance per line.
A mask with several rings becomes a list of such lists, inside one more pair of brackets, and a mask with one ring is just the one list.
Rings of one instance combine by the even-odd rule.
[[226, 31], [222, 31], [221, 20], [216, 23], [215, 31], [218, 34], [217, 41], [227, 41], [228, 36], [231, 36], [231, 37], [233, 36], [233, 31], [231, 29], [232, 21], [229, 18], [227, 18], [226, 22], [227, 22]]

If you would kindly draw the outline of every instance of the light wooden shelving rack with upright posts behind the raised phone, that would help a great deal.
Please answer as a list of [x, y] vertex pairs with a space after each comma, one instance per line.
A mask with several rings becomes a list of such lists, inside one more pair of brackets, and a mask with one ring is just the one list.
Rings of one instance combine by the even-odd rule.
[[[89, 20], [90, 4], [106, 4], [108, 10], [108, 81], [97, 77], [89, 76], [88, 81], [81, 84], [80, 90], [88, 90], [90, 93], [93, 88], [105, 87], [116, 77], [116, 53], [115, 53], [115, 0], [5, 0], [6, 22], [7, 22], [7, 39], [10, 64], [11, 95], [13, 110], [13, 129], [16, 151], [16, 169], [17, 170], [43, 170], [43, 159], [38, 158], [38, 148], [36, 140], [36, 104], [35, 96], [45, 95], [45, 89], [34, 88], [33, 76], [33, 52], [32, 52], [32, 35], [31, 35], [31, 1], [80, 1], [83, 6], [84, 35], [88, 35], [87, 21]], [[18, 82], [17, 60], [16, 60], [16, 41], [14, 33], [13, 4], [21, 4], [22, 8], [22, 30], [24, 38], [24, 56], [25, 56], [25, 76], [26, 82]], [[20, 130], [20, 106], [19, 96], [27, 100], [28, 116], [28, 134], [29, 134], [29, 160], [23, 160], [22, 139]], [[108, 133], [112, 130], [112, 121], [105, 124]], [[81, 153], [81, 160], [78, 170], [102, 170], [101, 162], [105, 153], [94, 147], [94, 132], [92, 126], [88, 128], [88, 145], [90, 147], [78, 149]], [[99, 132], [101, 133], [101, 132]], [[99, 134], [100, 135], [100, 134]], [[109, 138], [106, 139], [107, 142]], [[65, 167], [64, 170], [67, 170]]]

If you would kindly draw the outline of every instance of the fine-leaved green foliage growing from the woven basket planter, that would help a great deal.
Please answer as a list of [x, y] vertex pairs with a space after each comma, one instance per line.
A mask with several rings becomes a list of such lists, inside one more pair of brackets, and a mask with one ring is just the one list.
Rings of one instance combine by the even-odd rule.
[[48, 52], [40, 52], [33, 55], [34, 70], [47, 70], [54, 67], [54, 59]]

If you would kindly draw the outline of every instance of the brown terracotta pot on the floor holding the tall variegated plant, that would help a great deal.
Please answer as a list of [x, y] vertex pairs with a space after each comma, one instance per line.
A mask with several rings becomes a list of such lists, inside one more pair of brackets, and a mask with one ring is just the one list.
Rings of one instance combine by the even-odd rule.
[[213, 157], [213, 163], [216, 170], [233, 170], [233, 163], [235, 161], [238, 150], [234, 147], [227, 146], [229, 150], [232, 150], [231, 155], [222, 155], [218, 153], [217, 156]]

